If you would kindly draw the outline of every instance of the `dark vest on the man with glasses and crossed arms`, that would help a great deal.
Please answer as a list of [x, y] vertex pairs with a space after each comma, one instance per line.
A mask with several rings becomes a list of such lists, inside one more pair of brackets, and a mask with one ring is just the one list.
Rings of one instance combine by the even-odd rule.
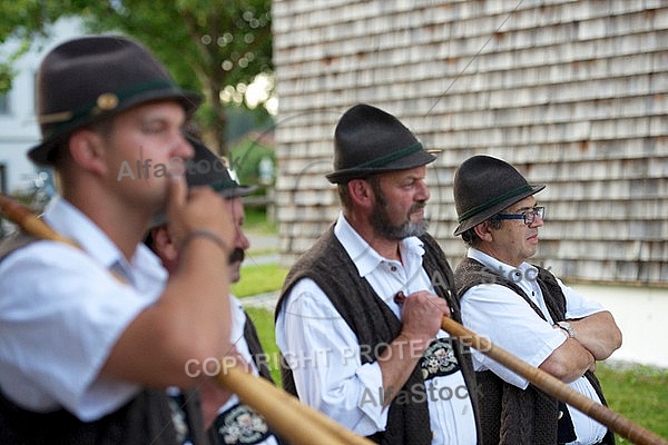
[[[550, 317], [554, 322], [566, 318], [566, 296], [557, 279], [548, 270], [538, 269], [538, 284], [546, 300]], [[458, 298], [470, 288], [482, 284], [498, 284], [520, 295], [537, 315], [546, 319], [542, 312], [515, 283], [498, 275], [481, 263], [464, 258], [454, 274]], [[475, 373], [479, 385], [480, 422], [485, 445], [554, 445], [576, 439], [572, 421], [566, 406], [529, 385], [518, 388], [499, 378], [491, 370]], [[601, 386], [592, 372], [584, 377], [606, 404]], [[561, 418], [560, 418], [561, 417]], [[615, 445], [612, 432], [608, 431], [602, 444]]]

